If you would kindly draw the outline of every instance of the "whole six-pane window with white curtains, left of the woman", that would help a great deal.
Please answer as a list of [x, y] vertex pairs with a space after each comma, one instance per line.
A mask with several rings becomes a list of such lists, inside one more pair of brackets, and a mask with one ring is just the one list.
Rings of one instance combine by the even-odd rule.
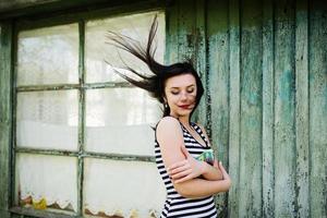
[[121, 56], [147, 73], [138, 60], [105, 44], [105, 35], [114, 31], [145, 41], [155, 14], [156, 58], [164, 62], [164, 12], [17, 31], [17, 206], [85, 217], [159, 214], [165, 187], [150, 126], [161, 109], [105, 63], [119, 70]]

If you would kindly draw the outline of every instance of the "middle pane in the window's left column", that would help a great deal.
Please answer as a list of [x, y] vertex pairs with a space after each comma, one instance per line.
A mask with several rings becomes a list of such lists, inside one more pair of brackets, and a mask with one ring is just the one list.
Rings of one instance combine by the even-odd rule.
[[17, 94], [17, 146], [77, 149], [77, 90]]

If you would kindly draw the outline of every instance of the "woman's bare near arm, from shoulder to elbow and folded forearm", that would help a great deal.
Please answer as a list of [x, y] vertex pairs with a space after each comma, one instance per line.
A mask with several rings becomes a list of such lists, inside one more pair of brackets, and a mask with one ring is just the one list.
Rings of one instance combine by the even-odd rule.
[[[166, 169], [174, 162], [185, 160], [181, 149], [184, 146], [183, 132], [178, 120], [171, 117], [164, 118], [157, 125], [156, 134]], [[182, 196], [197, 198], [227, 192], [231, 181], [226, 173], [225, 178], [219, 181], [191, 179], [181, 183], [173, 183], [173, 185]]]

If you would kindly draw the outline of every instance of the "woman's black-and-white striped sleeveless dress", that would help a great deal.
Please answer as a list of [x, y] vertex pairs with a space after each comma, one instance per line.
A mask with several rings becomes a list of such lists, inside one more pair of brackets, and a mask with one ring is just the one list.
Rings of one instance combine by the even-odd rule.
[[[180, 121], [179, 121], [180, 122]], [[193, 129], [201, 135], [201, 137], [206, 143], [206, 147], [201, 145], [183, 126], [180, 122], [183, 136], [184, 144], [189, 153], [194, 157], [201, 157], [204, 153], [211, 150], [208, 145], [206, 137], [204, 136], [199, 126], [195, 123], [191, 122]], [[155, 156], [156, 156], [156, 165], [158, 171], [161, 175], [161, 179], [165, 183], [167, 191], [167, 199], [165, 202], [164, 209], [161, 211], [160, 218], [216, 218], [217, 209], [215, 206], [215, 201], [213, 196], [203, 197], [203, 198], [186, 198], [180, 195], [175, 189], [173, 187], [172, 181], [170, 180], [168, 172], [164, 166], [161, 152], [159, 147], [159, 143], [157, 142], [157, 137], [155, 140]]]

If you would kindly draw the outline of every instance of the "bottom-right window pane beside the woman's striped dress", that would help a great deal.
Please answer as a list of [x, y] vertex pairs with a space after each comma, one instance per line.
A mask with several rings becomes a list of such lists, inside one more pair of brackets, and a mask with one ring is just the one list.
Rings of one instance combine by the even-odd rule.
[[86, 215], [159, 217], [166, 191], [155, 164], [87, 158], [84, 178]]

